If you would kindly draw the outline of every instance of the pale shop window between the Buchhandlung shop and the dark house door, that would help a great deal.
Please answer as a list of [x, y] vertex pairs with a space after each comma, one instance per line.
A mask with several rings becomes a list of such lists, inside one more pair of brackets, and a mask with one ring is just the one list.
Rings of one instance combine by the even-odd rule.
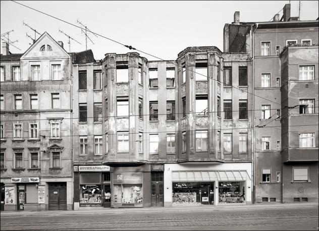
[[143, 173], [112, 172], [113, 207], [143, 207]]

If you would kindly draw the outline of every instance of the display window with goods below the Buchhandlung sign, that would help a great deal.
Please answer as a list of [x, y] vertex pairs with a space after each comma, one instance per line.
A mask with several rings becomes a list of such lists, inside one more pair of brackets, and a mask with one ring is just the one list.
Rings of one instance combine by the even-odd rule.
[[80, 203], [102, 203], [102, 188], [100, 185], [80, 185]]

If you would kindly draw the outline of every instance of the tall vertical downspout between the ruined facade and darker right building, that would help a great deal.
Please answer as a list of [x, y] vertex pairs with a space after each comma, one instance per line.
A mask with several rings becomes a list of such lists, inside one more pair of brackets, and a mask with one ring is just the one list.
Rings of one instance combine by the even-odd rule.
[[[255, 32], [258, 28], [258, 23], [255, 24], [256, 28], [252, 33], [252, 178], [253, 178], [253, 203], [256, 203], [256, 180], [255, 180]], [[251, 31], [250, 31], [251, 32]]]

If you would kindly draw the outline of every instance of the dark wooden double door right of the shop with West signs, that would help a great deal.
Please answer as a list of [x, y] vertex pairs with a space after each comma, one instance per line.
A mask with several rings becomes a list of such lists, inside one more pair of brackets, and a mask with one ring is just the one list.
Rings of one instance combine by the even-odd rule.
[[67, 210], [67, 183], [49, 183], [49, 210]]

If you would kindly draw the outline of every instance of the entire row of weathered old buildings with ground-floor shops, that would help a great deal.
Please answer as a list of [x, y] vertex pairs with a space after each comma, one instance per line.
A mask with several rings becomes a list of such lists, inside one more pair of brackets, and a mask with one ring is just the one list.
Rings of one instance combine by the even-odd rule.
[[318, 19], [224, 27], [177, 60], [1, 55], [1, 210], [318, 201]]

